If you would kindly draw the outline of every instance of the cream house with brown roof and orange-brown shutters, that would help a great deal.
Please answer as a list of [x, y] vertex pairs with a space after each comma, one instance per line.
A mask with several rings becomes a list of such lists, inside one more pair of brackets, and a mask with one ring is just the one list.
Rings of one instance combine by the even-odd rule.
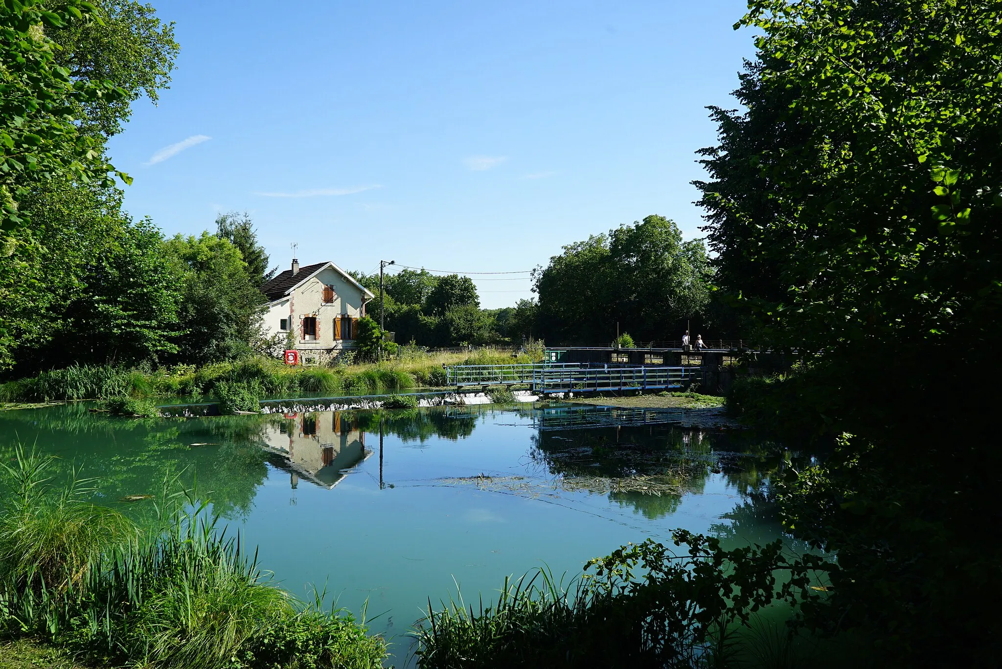
[[333, 262], [301, 267], [297, 259], [261, 289], [269, 300], [263, 316], [266, 334], [279, 334], [280, 346], [299, 351], [308, 365], [354, 349], [359, 318], [375, 297]]

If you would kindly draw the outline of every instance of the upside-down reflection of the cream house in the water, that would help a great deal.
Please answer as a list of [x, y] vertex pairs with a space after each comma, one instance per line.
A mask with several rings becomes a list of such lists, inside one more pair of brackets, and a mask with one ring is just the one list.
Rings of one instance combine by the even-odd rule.
[[265, 443], [278, 456], [274, 464], [292, 475], [293, 488], [300, 478], [330, 490], [345, 478], [345, 471], [373, 454], [366, 450], [365, 433], [347, 412], [286, 414], [269, 425]]

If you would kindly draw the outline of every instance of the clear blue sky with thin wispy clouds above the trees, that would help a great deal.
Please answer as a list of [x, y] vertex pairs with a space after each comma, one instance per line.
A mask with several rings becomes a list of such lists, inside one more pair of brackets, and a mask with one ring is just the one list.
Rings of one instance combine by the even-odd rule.
[[[754, 53], [734, 0], [153, 3], [181, 53], [110, 142], [126, 208], [167, 234], [245, 210], [283, 268], [296, 241], [346, 269], [528, 270], [650, 213], [699, 236], [705, 106], [735, 105]], [[482, 305], [525, 276], [478, 275]]]

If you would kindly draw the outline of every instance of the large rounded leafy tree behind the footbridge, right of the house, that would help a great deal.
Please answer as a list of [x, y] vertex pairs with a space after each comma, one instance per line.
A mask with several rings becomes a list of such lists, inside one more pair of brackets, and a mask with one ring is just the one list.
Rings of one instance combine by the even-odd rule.
[[616, 322], [641, 340], [665, 340], [709, 299], [710, 268], [699, 240], [650, 215], [564, 246], [536, 273], [538, 318], [549, 339], [611, 342]]

